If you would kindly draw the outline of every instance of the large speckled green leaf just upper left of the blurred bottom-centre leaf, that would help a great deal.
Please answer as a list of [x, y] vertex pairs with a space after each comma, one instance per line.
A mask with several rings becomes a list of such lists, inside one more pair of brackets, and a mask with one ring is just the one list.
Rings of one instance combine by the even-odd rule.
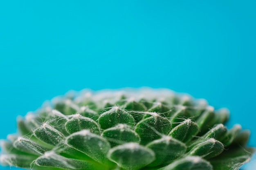
[[110, 149], [106, 139], [91, 133], [90, 130], [73, 133], [67, 137], [66, 143], [99, 162], [106, 161], [106, 153]]

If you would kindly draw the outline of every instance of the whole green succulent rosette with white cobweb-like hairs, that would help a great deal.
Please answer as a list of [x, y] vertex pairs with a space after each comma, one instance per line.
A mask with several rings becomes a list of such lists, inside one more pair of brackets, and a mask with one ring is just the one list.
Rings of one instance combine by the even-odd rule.
[[47, 102], [1, 141], [3, 166], [35, 170], [238, 170], [254, 148], [226, 108], [168, 89], [84, 90]]

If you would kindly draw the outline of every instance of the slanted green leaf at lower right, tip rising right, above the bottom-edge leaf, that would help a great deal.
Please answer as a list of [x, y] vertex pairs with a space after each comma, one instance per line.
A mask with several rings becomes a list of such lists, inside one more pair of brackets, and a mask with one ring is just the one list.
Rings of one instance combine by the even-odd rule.
[[194, 146], [188, 154], [201, 156], [204, 159], [210, 159], [220, 155], [223, 150], [224, 146], [220, 141], [209, 138], [206, 141], [200, 142]]

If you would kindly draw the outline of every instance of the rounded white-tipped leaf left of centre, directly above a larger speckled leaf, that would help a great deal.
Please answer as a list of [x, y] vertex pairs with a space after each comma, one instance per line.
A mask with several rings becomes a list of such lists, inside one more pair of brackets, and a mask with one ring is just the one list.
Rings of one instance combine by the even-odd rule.
[[65, 128], [70, 134], [80, 130], [88, 129], [90, 132], [96, 135], [101, 135], [99, 125], [96, 121], [88, 117], [83, 117], [80, 114], [70, 115], [69, 118], [70, 119], [65, 124]]

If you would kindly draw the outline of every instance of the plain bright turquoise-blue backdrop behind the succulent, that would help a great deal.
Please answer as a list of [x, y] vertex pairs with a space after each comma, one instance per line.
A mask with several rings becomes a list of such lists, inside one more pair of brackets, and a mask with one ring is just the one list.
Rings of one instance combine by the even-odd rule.
[[229, 127], [250, 129], [256, 146], [255, 9], [254, 0], [0, 1], [0, 139], [18, 115], [70, 89], [150, 86], [229, 108]]

